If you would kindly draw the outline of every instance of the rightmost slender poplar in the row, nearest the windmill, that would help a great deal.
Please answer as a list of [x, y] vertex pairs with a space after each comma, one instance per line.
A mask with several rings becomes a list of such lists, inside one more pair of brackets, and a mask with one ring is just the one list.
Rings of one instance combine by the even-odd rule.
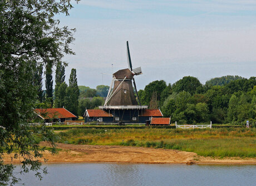
[[77, 115], [79, 88], [77, 85], [76, 69], [72, 69], [70, 73], [69, 85], [66, 89], [65, 107], [68, 111]]

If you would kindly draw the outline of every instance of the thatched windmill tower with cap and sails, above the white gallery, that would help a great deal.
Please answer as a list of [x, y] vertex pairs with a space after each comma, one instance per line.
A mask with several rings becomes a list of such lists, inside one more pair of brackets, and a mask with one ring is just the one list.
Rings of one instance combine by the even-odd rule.
[[[121, 69], [113, 74], [110, 89], [106, 97], [104, 106], [129, 106], [138, 105], [134, 95], [134, 89], [141, 106], [139, 95], [136, 88], [134, 76], [142, 74], [141, 67], [132, 69], [129, 43], [127, 45], [127, 69]], [[134, 85], [134, 89], [132, 87]]]

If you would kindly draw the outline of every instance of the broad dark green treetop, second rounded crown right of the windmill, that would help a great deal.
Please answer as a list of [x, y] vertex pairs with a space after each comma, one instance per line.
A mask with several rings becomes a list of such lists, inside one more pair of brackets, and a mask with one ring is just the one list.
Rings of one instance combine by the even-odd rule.
[[199, 87], [202, 86], [203, 85], [196, 77], [185, 76], [183, 77], [183, 79], [175, 82], [175, 84], [173, 85], [173, 91], [177, 93], [181, 91], [186, 91], [193, 95], [195, 94], [196, 89], [199, 89]]

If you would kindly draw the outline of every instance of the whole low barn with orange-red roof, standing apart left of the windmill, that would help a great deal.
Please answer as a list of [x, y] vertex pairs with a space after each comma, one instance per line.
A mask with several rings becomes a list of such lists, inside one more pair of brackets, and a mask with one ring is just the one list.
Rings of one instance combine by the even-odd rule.
[[66, 108], [36, 108], [34, 111], [44, 122], [64, 122], [77, 119], [77, 116]]

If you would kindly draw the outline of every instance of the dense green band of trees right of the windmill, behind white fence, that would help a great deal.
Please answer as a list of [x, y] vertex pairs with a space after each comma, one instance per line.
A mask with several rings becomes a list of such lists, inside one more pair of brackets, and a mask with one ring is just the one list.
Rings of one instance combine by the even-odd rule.
[[160, 108], [179, 123], [256, 121], [256, 77], [223, 76], [206, 81], [185, 76], [173, 85], [156, 80], [139, 90], [142, 105]]

